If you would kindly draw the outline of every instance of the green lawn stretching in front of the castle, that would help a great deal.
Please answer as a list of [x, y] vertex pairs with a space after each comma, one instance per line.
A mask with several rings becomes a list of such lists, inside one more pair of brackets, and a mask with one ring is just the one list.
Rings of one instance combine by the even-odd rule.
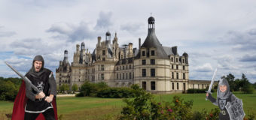
[[[157, 101], [172, 101], [173, 96], [178, 95], [185, 101], [193, 100], [193, 110], [211, 110], [215, 106], [206, 101], [206, 94], [173, 94], [173, 95], [154, 95]], [[236, 92], [234, 95], [241, 98], [245, 114], [248, 110], [256, 113], [256, 94], [241, 94]], [[213, 94], [216, 97], [216, 94]], [[58, 115], [62, 119], [109, 119], [120, 115], [120, 110], [125, 104], [122, 99], [111, 98], [57, 98]], [[0, 101], [0, 119], [7, 119], [6, 113], [11, 113], [13, 102]]]

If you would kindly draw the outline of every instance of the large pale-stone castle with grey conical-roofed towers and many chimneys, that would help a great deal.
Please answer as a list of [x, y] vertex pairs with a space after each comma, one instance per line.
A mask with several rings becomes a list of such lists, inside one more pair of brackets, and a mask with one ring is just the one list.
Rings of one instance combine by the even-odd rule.
[[[105, 82], [111, 87], [129, 87], [139, 84], [142, 89], [152, 93], [185, 92], [189, 84], [188, 55], [178, 54], [177, 46], [162, 46], [155, 34], [155, 19], [148, 18], [148, 36], [139, 48], [133, 43], [119, 46], [117, 33], [111, 42], [111, 33], [105, 40], [98, 37], [93, 52], [85, 49], [84, 42], [76, 45], [73, 62], [68, 61], [68, 51], [56, 69], [57, 86], [85, 82]], [[198, 87], [201, 84], [198, 84]], [[202, 84], [202, 89], [208, 84]], [[191, 87], [191, 86], [190, 86]], [[200, 88], [200, 87], [199, 87]]]

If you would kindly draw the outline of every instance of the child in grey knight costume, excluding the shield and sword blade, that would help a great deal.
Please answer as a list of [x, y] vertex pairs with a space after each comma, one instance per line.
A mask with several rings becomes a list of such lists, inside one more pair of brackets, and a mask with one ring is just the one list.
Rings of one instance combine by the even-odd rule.
[[217, 99], [213, 98], [212, 94], [209, 93], [206, 93], [206, 97], [208, 97], [212, 104], [220, 108], [221, 112], [219, 113], [219, 119], [229, 120], [232, 118], [232, 116], [227, 112], [227, 103], [234, 103], [239, 99], [230, 92], [230, 86], [225, 78], [221, 79], [218, 83]]

